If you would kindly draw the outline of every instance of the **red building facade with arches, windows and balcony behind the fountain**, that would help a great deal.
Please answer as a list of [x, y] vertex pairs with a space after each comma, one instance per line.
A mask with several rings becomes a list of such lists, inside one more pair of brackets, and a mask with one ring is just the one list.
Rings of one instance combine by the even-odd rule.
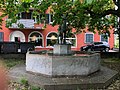
[[[58, 26], [52, 26], [52, 15], [46, 14], [46, 28], [44, 24], [36, 24], [36, 19], [32, 16], [27, 16], [26, 13], [21, 13], [21, 19], [17, 24], [12, 24], [11, 27], [6, 28], [5, 21], [0, 30], [0, 41], [7, 42], [36, 42], [37, 49], [53, 49], [53, 45], [57, 43]], [[26, 16], [26, 17], [25, 17]], [[7, 20], [7, 17], [4, 18]], [[23, 29], [18, 27], [18, 24], [24, 25]], [[75, 29], [73, 29], [75, 32]], [[108, 39], [104, 38], [104, 35], [99, 35], [97, 32], [94, 34], [87, 31], [86, 33], [80, 33], [75, 35], [71, 33], [66, 38], [67, 43], [72, 44], [72, 50], [80, 50], [80, 47], [93, 41], [107, 41], [110, 44], [110, 48], [114, 47], [114, 34], [113, 30], [110, 30], [111, 34]]]

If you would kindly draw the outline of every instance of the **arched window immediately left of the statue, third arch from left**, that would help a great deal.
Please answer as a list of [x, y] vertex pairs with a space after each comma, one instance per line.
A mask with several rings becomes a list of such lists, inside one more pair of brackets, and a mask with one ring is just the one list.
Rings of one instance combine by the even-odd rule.
[[58, 34], [55, 32], [49, 33], [47, 36], [47, 46], [54, 46], [57, 43]]

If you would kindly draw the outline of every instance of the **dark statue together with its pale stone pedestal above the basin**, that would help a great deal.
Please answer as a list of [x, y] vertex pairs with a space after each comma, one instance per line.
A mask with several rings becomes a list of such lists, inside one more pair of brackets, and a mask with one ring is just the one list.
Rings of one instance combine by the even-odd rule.
[[68, 55], [71, 54], [71, 45], [66, 44], [67, 34], [67, 15], [62, 16], [62, 24], [59, 26], [58, 44], [54, 45], [53, 54], [55, 55]]

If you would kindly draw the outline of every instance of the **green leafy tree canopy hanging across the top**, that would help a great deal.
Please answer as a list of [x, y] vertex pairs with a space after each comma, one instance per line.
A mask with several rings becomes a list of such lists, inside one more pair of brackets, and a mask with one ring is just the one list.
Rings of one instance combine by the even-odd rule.
[[[72, 28], [76, 29], [76, 33], [85, 32], [84, 28], [88, 26], [89, 31], [95, 33], [96, 29], [99, 34], [109, 35], [110, 26], [120, 27], [117, 19], [120, 17], [120, 0], [2, 0], [0, 8], [3, 14], [0, 16], [0, 24], [6, 15], [14, 23], [19, 19], [19, 12], [29, 12], [29, 9], [33, 8], [33, 16], [37, 16], [39, 13], [45, 14], [48, 7], [54, 15], [53, 26], [62, 25], [63, 16], [66, 16], [67, 34]], [[120, 28], [116, 33], [120, 37]]]

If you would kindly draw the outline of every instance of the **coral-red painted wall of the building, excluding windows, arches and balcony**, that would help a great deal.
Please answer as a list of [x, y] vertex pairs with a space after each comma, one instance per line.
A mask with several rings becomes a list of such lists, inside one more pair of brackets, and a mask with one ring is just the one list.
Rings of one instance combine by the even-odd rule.
[[[6, 19], [6, 17], [4, 18], [4, 20]], [[43, 25], [35, 25], [36, 26], [43, 26]], [[32, 29], [32, 30], [27, 30], [27, 29], [24, 29], [24, 30], [17, 30], [17, 31], [21, 31], [24, 33], [25, 35], [25, 39], [26, 39], [26, 42], [28, 42], [28, 36], [31, 32], [33, 31], [38, 31], [40, 33], [43, 34], [43, 38], [44, 38], [44, 48], [46, 47], [46, 36], [49, 32], [57, 32], [57, 28], [58, 26], [55, 26], [55, 27], [52, 27], [51, 25], [47, 25], [47, 27], [45, 29], [42, 29], [42, 30], [35, 30], [35, 29]], [[9, 37], [10, 37], [10, 34], [16, 30], [10, 30], [8, 28], [5, 27], [5, 22], [3, 22], [3, 26], [2, 26], [2, 30], [0, 32], [3, 32], [4, 33], [4, 41], [9, 41]], [[73, 32], [75, 31], [75, 29], [73, 29]], [[77, 42], [77, 45], [75, 48], [73, 48], [74, 50], [80, 50], [80, 47], [83, 46], [83, 45], [86, 45], [86, 43], [84, 42], [85, 41], [85, 33], [81, 33], [81, 34], [77, 34], [76, 35], [76, 42]], [[94, 41], [100, 41], [100, 35], [98, 35], [98, 33], [94, 34]], [[114, 47], [114, 34], [113, 34], [113, 29], [111, 30], [111, 34], [110, 34], [110, 38], [108, 40], [109, 44], [110, 44], [110, 47], [113, 48]]]

